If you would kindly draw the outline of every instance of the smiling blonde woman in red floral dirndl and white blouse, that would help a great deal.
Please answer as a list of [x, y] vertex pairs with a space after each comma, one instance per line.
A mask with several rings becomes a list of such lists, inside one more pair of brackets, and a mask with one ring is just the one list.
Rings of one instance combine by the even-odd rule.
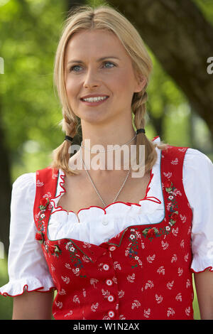
[[[192, 271], [201, 316], [213, 318], [212, 162], [147, 139], [151, 69], [118, 11], [83, 6], [67, 18], [55, 57], [65, 141], [51, 166], [13, 183], [1, 287], [13, 319], [50, 319], [52, 305], [55, 319], [192, 319]], [[82, 145], [70, 157], [77, 117]], [[136, 156], [127, 150], [116, 168], [131, 145]]]

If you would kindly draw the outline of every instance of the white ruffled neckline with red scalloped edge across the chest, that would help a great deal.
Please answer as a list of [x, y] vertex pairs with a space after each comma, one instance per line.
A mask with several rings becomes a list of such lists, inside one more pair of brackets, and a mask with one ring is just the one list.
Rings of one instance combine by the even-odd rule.
[[[159, 142], [160, 139], [155, 139]], [[114, 237], [131, 225], [155, 224], [163, 220], [165, 208], [160, 183], [160, 150], [156, 148], [158, 160], [155, 162], [148, 184], [146, 196], [139, 203], [115, 202], [101, 208], [90, 206], [75, 212], [63, 210], [57, 206], [65, 193], [65, 173], [60, 169], [56, 195], [50, 200], [53, 211], [48, 224], [50, 240], [72, 238], [99, 244], [99, 240]], [[103, 225], [106, 226], [103, 228]], [[108, 236], [108, 237], [107, 237]]]

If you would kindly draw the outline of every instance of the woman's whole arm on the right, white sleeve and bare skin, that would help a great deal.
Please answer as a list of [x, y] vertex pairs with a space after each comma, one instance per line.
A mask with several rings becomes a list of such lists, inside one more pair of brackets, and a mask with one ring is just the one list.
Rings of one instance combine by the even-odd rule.
[[202, 319], [213, 319], [213, 164], [204, 153], [188, 149], [183, 178], [192, 208], [192, 264]]

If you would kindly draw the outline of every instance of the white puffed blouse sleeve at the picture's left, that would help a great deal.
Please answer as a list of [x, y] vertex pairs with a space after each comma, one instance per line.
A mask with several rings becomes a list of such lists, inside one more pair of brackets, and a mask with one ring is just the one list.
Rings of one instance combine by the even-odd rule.
[[3, 296], [18, 296], [23, 291], [55, 289], [40, 243], [35, 240], [33, 220], [35, 173], [19, 176], [12, 186], [9, 237], [9, 282], [1, 286]]

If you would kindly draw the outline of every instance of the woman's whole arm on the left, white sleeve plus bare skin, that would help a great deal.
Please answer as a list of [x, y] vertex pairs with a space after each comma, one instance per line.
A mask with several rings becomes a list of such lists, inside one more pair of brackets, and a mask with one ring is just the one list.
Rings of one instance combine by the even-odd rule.
[[[42, 247], [35, 239], [35, 184], [35, 173], [23, 174], [13, 183], [11, 194], [9, 282], [0, 293], [14, 298], [14, 320], [51, 318], [55, 285]], [[31, 292], [23, 292], [24, 286]]]

